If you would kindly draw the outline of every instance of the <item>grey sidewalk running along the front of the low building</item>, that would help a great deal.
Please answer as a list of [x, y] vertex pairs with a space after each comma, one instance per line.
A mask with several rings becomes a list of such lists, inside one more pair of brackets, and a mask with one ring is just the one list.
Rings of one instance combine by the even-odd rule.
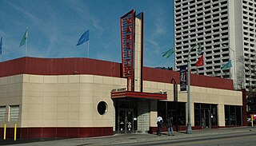
[[227, 135], [256, 135], [256, 127], [236, 127], [236, 128], [214, 128], [193, 130], [192, 134], [186, 134], [185, 131], [174, 132], [174, 136], [168, 136], [167, 132], [162, 132], [161, 136], [153, 134], [115, 134], [114, 136], [101, 136], [90, 138], [73, 138], [73, 139], [35, 139], [35, 140], [0, 140], [0, 145], [27, 145], [27, 146], [83, 146], [83, 145], [129, 145], [143, 142], [155, 142], [163, 140], [184, 141], [208, 139], [216, 137], [216, 139]]

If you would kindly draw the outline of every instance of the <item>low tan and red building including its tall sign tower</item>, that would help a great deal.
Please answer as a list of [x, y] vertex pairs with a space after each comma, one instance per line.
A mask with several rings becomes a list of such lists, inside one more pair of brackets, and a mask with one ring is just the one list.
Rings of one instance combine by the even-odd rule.
[[[0, 62], [0, 137], [91, 137], [156, 131], [156, 117], [185, 130], [180, 73], [143, 66], [143, 13], [120, 18], [122, 63], [90, 58], [22, 57]], [[135, 35], [136, 34], [136, 35]], [[233, 81], [190, 75], [192, 129], [242, 126]], [[184, 88], [184, 87], [182, 87]]]

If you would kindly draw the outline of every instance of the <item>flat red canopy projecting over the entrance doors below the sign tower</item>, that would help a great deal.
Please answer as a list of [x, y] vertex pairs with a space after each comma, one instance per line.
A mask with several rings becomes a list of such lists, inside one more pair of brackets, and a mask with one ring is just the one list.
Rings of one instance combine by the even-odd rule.
[[141, 92], [130, 92], [130, 91], [122, 91], [122, 92], [112, 92], [111, 98], [143, 98], [150, 100], [167, 100], [166, 93], [141, 93]]

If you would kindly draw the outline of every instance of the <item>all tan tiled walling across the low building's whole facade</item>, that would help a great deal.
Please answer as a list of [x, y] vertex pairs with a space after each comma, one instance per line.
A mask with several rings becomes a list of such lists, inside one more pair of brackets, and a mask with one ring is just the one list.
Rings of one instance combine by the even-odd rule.
[[[143, 92], [167, 92], [174, 101], [173, 85], [143, 81]], [[20, 118], [10, 122], [6, 117], [0, 126], [13, 127], [113, 127], [112, 89], [126, 88], [126, 79], [94, 75], [40, 76], [22, 74], [0, 78], [0, 106], [20, 105]], [[179, 86], [178, 86], [179, 90]], [[178, 92], [178, 101], [187, 94]], [[108, 111], [97, 112], [98, 102], [105, 101]], [[149, 126], [155, 127], [157, 101], [149, 101]], [[225, 126], [224, 105], [242, 105], [242, 92], [191, 86], [191, 124], [194, 126], [194, 103], [218, 105], [218, 125]]]

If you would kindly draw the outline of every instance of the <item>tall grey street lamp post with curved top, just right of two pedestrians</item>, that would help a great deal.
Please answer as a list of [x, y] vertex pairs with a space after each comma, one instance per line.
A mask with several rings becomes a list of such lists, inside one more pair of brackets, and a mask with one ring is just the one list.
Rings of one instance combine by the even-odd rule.
[[201, 45], [196, 44], [194, 45], [188, 54], [187, 57], [187, 128], [186, 133], [192, 134], [191, 122], [190, 122], [190, 53], [194, 47], [198, 46], [199, 51], [201, 52]]

